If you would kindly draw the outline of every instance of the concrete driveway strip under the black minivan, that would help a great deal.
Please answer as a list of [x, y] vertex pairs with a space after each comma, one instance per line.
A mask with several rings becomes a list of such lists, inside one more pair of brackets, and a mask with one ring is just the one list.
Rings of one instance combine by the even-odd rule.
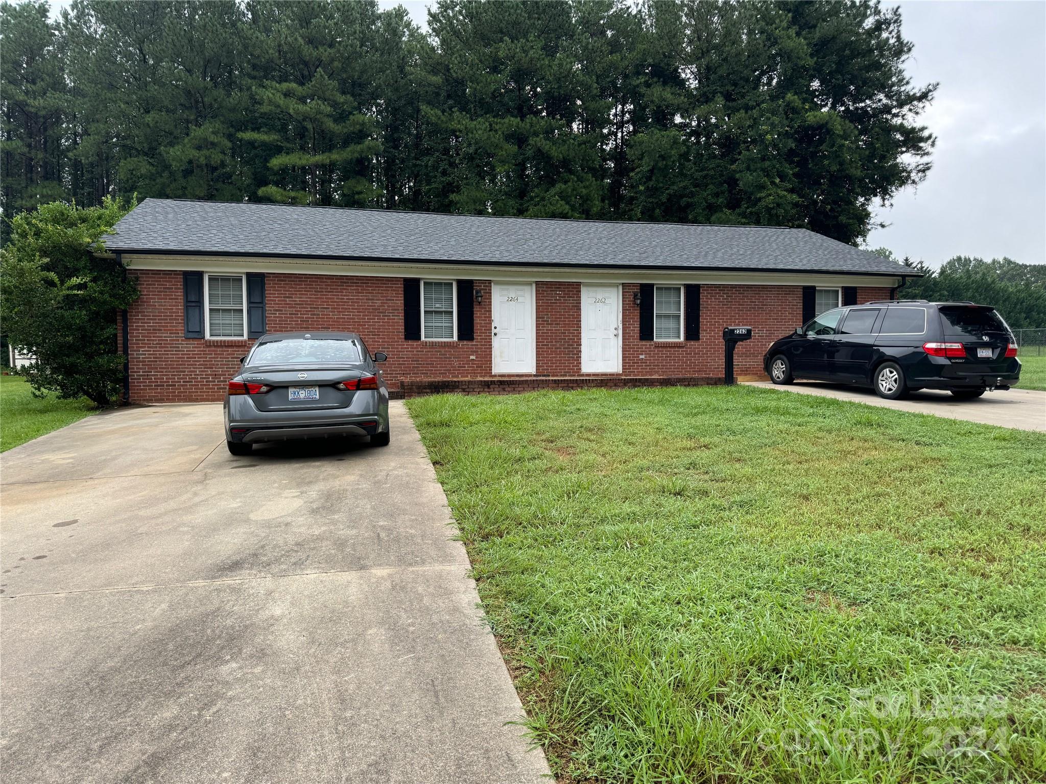
[[1033, 389], [1010, 389], [1006, 392], [985, 392], [974, 400], [957, 400], [950, 392], [923, 390], [903, 400], [885, 400], [872, 389], [846, 387], [821, 382], [796, 382], [778, 387], [770, 382], [751, 382], [749, 386], [798, 392], [838, 400], [866, 402], [896, 411], [933, 414], [949, 419], [965, 419], [1001, 428], [1046, 431], [1046, 392]]

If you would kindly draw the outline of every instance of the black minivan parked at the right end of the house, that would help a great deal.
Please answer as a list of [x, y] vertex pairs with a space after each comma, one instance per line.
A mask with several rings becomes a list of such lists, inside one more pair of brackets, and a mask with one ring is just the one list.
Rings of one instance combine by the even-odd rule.
[[763, 366], [774, 384], [871, 386], [889, 399], [920, 389], [980, 397], [1021, 375], [1014, 333], [993, 307], [927, 300], [826, 310], [770, 346]]

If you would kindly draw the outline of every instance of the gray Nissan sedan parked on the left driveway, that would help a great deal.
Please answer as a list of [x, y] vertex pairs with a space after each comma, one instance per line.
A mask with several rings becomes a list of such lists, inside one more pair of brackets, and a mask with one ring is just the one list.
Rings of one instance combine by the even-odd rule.
[[258, 338], [225, 395], [225, 442], [233, 455], [256, 443], [331, 436], [389, 442], [389, 391], [355, 332], [277, 332]]

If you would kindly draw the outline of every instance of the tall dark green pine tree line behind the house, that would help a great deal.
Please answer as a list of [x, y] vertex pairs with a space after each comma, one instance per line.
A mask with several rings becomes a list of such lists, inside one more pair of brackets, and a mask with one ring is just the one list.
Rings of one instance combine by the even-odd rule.
[[[0, 6], [0, 198], [781, 225], [918, 183], [935, 85], [874, 2]], [[6, 225], [6, 222], [5, 222]]]

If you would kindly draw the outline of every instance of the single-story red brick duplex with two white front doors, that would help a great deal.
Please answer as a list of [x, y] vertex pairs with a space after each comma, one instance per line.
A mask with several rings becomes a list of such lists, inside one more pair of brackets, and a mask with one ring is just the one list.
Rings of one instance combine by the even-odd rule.
[[133, 402], [222, 398], [264, 332], [348, 330], [391, 390], [713, 384], [815, 315], [911, 272], [804, 229], [146, 199], [106, 239]]

